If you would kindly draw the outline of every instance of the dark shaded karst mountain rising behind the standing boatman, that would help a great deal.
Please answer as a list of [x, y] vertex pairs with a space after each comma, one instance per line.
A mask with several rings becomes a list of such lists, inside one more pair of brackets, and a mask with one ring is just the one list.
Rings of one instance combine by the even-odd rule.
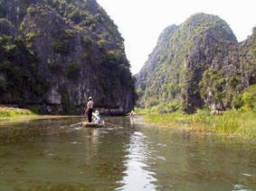
[[0, 104], [81, 114], [135, 104], [117, 26], [95, 0], [0, 0]]

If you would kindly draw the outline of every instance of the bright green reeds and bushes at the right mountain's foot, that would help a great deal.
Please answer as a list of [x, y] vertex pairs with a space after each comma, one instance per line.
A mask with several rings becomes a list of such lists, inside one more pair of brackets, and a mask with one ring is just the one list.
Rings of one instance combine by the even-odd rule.
[[[197, 110], [195, 114], [184, 114], [178, 109], [178, 103], [165, 103], [147, 109], [136, 109], [137, 114], [145, 114], [148, 123], [170, 125], [177, 128], [188, 128], [200, 132], [218, 132], [256, 138], [256, 86], [250, 86], [236, 98], [237, 108], [214, 115], [209, 109]], [[170, 105], [173, 105], [170, 107]], [[170, 108], [173, 112], [169, 112]], [[167, 114], [163, 114], [166, 111]]]

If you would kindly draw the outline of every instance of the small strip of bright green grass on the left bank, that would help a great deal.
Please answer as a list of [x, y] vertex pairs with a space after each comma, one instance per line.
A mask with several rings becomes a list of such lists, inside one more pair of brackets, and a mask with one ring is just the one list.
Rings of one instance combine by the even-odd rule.
[[13, 116], [26, 116], [35, 115], [30, 110], [12, 108], [12, 107], [0, 107], [0, 117], [13, 117]]

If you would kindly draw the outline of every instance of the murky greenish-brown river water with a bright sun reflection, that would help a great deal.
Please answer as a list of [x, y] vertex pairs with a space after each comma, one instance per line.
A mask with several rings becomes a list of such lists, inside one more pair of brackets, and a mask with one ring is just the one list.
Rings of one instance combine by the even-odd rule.
[[0, 190], [256, 190], [256, 141], [175, 131], [135, 118], [0, 123]]

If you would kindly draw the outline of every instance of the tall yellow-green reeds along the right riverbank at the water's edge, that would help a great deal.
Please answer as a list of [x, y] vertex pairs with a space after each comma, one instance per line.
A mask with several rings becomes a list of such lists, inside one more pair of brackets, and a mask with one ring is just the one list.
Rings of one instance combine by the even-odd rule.
[[253, 111], [232, 110], [222, 115], [213, 115], [204, 110], [199, 110], [196, 114], [146, 114], [145, 122], [256, 139], [256, 113]]

